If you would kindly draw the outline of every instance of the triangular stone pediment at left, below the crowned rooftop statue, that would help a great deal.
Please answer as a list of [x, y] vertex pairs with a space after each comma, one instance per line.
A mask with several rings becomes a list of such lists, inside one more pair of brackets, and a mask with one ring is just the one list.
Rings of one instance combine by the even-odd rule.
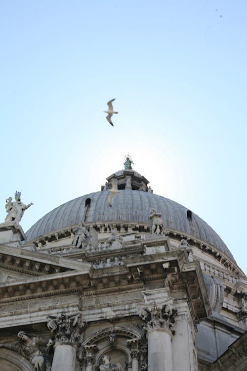
[[78, 291], [90, 263], [0, 245], [0, 303]]

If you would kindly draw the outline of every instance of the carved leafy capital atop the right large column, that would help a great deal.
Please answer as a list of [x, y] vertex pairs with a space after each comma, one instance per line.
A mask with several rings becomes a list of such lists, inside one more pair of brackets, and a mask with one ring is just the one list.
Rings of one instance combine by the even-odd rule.
[[150, 331], [155, 328], [165, 328], [171, 331], [174, 335], [175, 331], [172, 329], [175, 323], [175, 316], [177, 309], [173, 309], [170, 304], [165, 304], [162, 307], [154, 305], [151, 308], [142, 308], [139, 312], [140, 318], [146, 322], [145, 330]]

